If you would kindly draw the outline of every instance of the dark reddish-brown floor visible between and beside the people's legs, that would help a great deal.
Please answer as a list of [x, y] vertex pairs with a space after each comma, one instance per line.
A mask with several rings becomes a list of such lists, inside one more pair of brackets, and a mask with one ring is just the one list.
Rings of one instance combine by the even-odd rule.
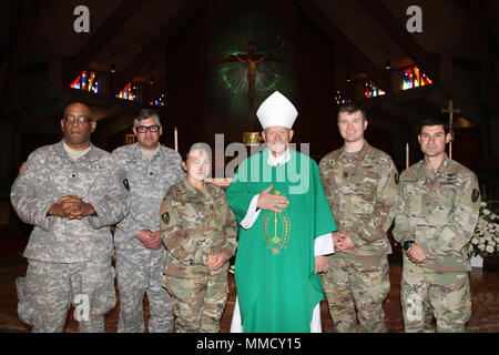
[[[22, 323], [17, 315], [17, 294], [14, 280], [23, 276], [27, 263], [21, 257], [21, 251], [26, 244], [26, 237], [0, 235], [3, 247], [0, 254], [0, 332], [29, 332], [29, 326]], [[7, 252], [10, 250], [10, 253]], [[395, 250], [390, 256], [391, 290], [384, 303], [386, 324], [388, 332], [403, 332], [400, 306], [400, 257]], [[467, 325], [468, 332], [499, 332], [499, 258], [488, 258], [483, 268], [473, 268], [470, 273], [472, 315]], [[234, 277], [230, 275], [230, 297], [222, 316], [222, 332], [226, 333], [231, 326], [231, 317], [235, 302]], [[116, 296], [119, 297], [118, 291]], [[119, 300], [119, 298], [118, 298]], [[105, 331], [114, 333], [118, 326], [119, 302], [116, 307], [105, 315]], [[147, 303], [144, 301], [147, 318]], [[320, 305], [323, 332], [334, 332], [327, 303]], [[78, 332], [78, 323], [74, 321], [73, 308], [68, 315], [67, 332]]]

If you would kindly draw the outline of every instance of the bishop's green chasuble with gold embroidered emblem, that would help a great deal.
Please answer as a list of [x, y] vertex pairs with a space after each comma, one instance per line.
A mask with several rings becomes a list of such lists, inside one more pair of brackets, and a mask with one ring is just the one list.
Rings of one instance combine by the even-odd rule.
[[324, 298], [319, 274], [314, 275], [314, 240], [336, 231], [317, 164], [289, 150], [291, 160], [267, 163], [268, 149], [241, 163], [227, 200], [238, 223], [249, 203], [271, 184], [285, 195], [282, 213], [262, 210], [255, 223], [240, 225], [235, 282], [244, 332], [310, 332], [314, 307]]

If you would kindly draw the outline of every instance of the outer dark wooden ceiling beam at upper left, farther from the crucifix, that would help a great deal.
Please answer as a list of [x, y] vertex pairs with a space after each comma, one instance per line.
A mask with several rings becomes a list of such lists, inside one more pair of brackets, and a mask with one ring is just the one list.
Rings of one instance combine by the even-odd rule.
[[62, 80], [70, 84], [83, 69], [104, 49], [128, 20], [136, 13], [144, 1], [123, 0], [116, 10], [92, 34], [85, 44], [73, 57], [62, 62]]

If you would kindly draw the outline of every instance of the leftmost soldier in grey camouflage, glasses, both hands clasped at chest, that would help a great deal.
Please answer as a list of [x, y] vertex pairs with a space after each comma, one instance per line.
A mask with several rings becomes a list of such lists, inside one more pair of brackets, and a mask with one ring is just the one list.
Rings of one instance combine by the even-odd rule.
[[71, 303], [80, 332], [104, 332], [115, 305], [110, 225], [129, 211], [124, 171], [94, 146], [90, 108], [71, 103], [61, 120], [64, 139], [30, 154], [11, 190], [22, 221], [34, 225], [17, 278], [19, 317], [32, 332], [63, 332]]

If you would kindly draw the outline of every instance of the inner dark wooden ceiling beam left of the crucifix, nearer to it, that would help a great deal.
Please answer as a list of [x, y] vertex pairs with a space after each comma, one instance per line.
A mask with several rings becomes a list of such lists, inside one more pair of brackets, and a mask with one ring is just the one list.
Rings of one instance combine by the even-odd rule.
[[164, 45], [173, 38], [173, 36], [191, 19], [204, 4], [204, 0], [189, 0], [183, 9], [169, 21], [169, 23], [160, 31], [160, 33], [136, 55], [132, 62], [122, 71], [116, 72], [115, 78], [111, 82], [111, 94], [119, 93], [123, 88], [140, 73], [140, 71], [154, 58], [159, 52], [164, 51]]

